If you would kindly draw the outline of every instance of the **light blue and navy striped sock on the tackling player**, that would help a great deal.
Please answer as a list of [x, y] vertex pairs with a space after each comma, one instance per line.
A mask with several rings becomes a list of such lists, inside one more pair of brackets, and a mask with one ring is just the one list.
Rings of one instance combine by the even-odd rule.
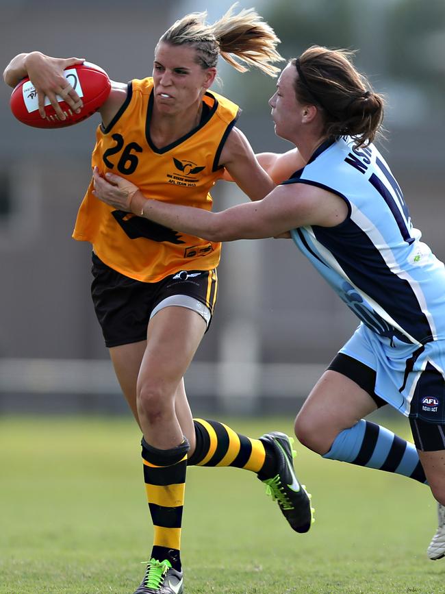
[[340, 432], [322, 457], [394, 472], [427, 484], [416, 447], [381, 425], [364, 419]]

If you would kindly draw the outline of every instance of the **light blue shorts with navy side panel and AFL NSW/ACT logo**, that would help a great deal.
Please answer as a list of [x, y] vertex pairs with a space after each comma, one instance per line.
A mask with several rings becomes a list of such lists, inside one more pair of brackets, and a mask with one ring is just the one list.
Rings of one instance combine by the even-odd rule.
[[360, 324], [340, 353], [375, 372], [374, 392], [410, 419], [445, 423], [445, 340], [391, 346]]

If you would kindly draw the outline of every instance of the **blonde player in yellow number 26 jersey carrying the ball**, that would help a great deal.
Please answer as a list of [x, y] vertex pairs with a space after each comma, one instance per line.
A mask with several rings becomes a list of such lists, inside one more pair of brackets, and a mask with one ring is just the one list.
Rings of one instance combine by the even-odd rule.
[[[277, 75], [273, 64], [281, 56], [275, 32], [254, 10], [233, 14], [231, 9], [213, 25], [205, 16], [189, 14], [162, 35], [153, 77], [112, 83], [100, 110], [92, 165], [101, 175], [118, 173], [158, 200], [210, 210], [209, 190], [227, 173], [252, 200], [274, 187], [234, 126], [238, 106], [209, 90], [218, 56], [238, 71], [257, 66], [271, 76]], [[40, 114], [44, 116], [46, 96], [64, 119], [56, 95], [73, 110], [81, 108], [81, 99], [62, 72], [80, 62], [22, 53], [3, 76], [15, 86], [29, 75]], [[223, 423], [192, 419], [188, 406], [183, 375], [212, 318], [220, 243], [112, 208], [94, 196], [92, 184], [74, 237], [92, 243], [95, 310], [118, 381], [143, 433], [154, 543], [136, 593], [183, 591], [179, 549], [188, 464], [257, 473], [292, 528], [307, 532], [312, 508], [294, 474], [288, 436], [272, 432], [248, 438]]]

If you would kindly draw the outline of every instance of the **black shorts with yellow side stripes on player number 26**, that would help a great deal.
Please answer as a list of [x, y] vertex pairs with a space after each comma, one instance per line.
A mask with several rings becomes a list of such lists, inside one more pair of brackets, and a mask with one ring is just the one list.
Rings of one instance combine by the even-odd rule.
[[159, 282], [140, 282], [116, 272], [93, 253], [91, 271], [92, 301], [108, 348], [145, 341], [153, 312], [165, 299], [173, 299], [175, 305], [176, 295], [195, 301], [196, 308], [190, 308], [209, 326], [218, 288], [216, 269], [179, 271]]

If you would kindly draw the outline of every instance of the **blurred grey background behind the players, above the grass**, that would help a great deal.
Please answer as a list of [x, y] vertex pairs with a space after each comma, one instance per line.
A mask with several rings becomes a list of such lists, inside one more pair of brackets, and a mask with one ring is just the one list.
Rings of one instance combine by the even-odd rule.
[[[164, 30], [187, 12], [215, 21], [231, 2], [0, 1], [4, 66], [21, 51], [76, 55], [112, 79], [151, 74]], [[414, 225], [445, 258], [444, 0], [240, 1], [255, 6], [294, 57], [312, 44], [356, 49], [355, 63], [387, 96], [381, 149]], [[255, 151], [284, 151], [267, 101], [275, 82], [220, 64], [242, 106], [240, 129]], [[126, 412], [90, 301], [90, 247], [71, 239], [90, 179], [99, 117], [38, 130], [14, 120], [0, 88], [0, 413]], [[214, 190], [216, 210], [245, 197]], [[218, 307], [186, 376], [195, 412], [294, 412], [356, 322], [290, 240], [225, 245]]]

